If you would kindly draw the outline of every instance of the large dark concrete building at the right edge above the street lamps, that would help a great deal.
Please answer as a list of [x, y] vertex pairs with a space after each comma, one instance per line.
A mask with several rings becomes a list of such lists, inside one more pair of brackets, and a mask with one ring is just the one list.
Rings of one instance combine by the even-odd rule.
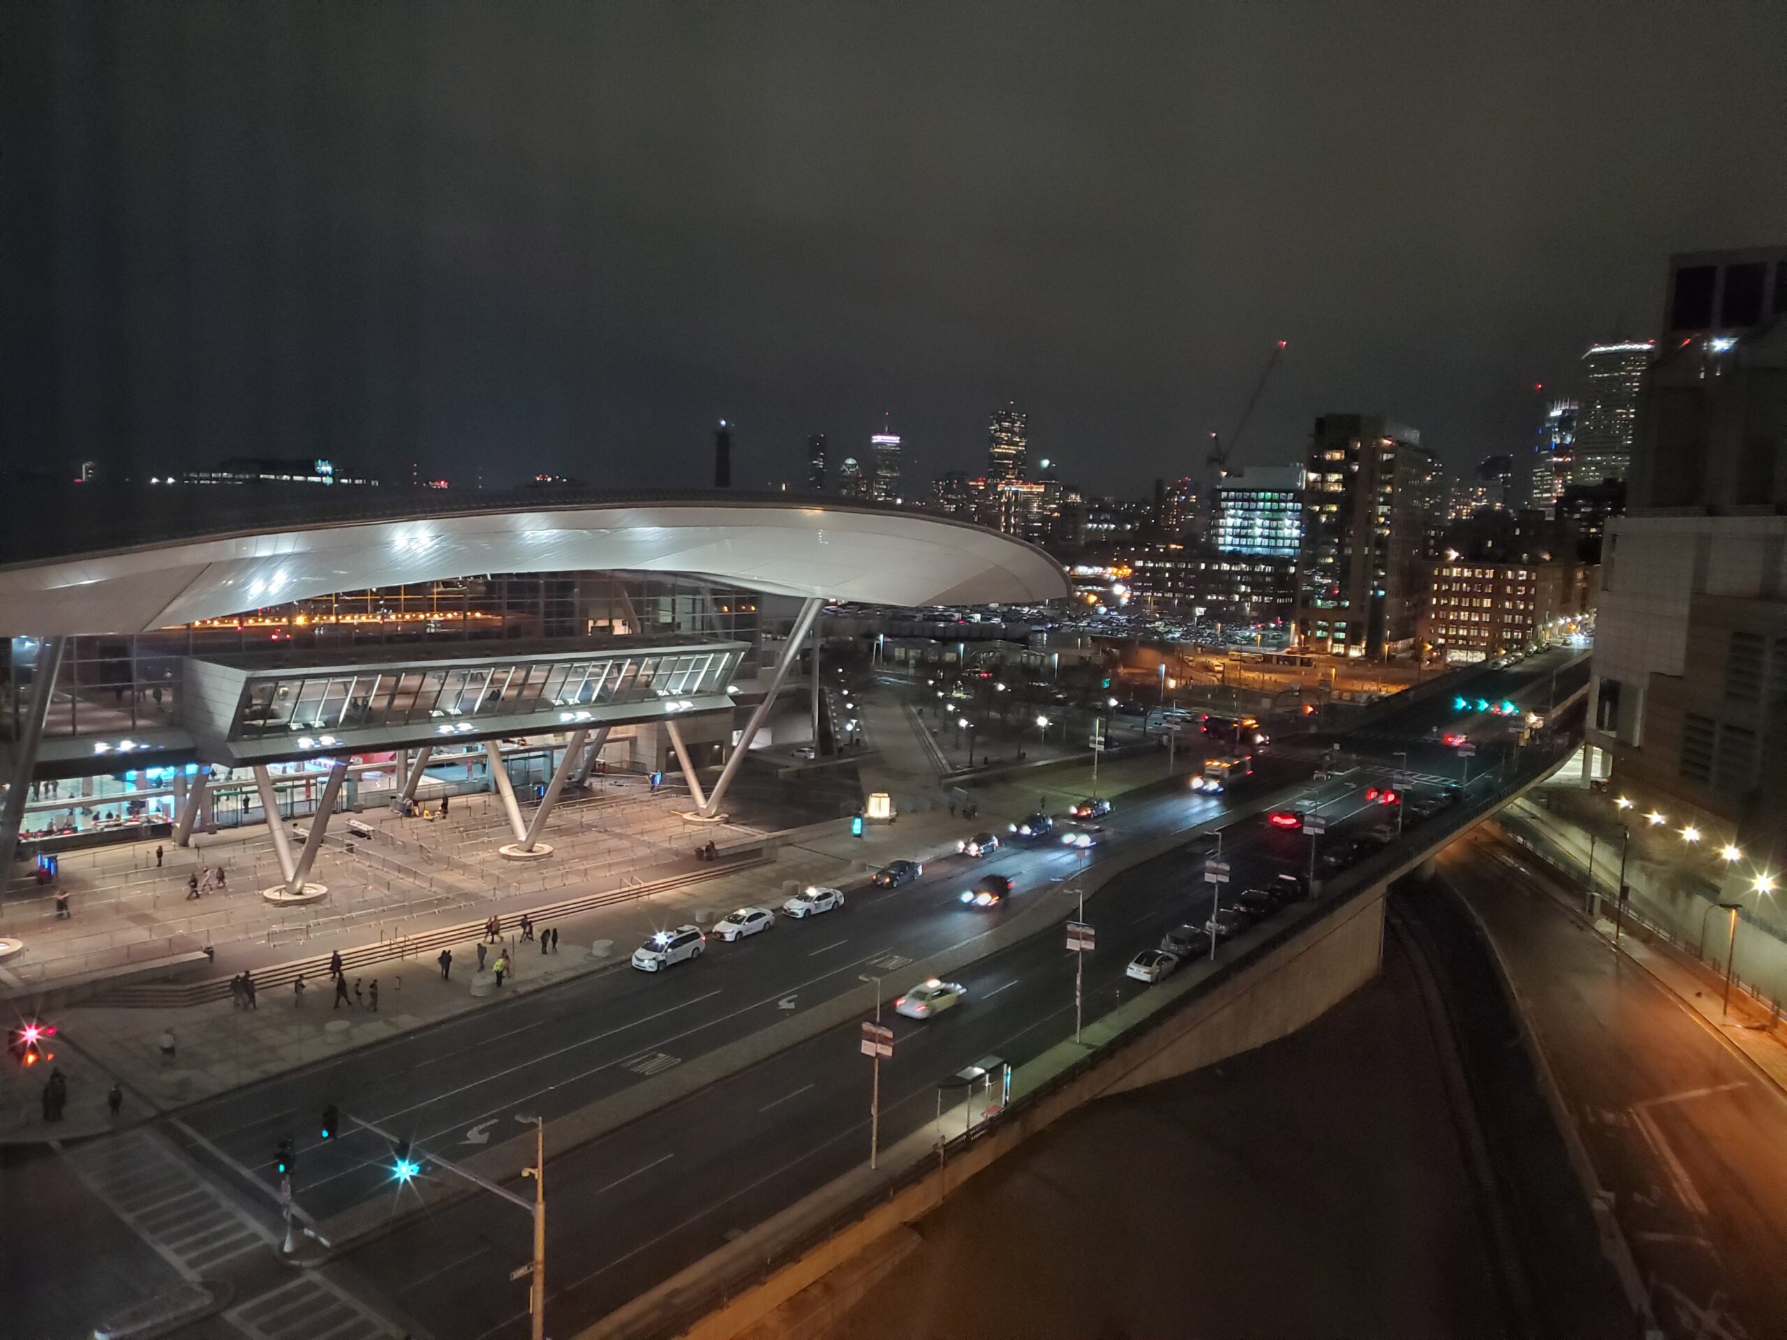
[[1787, 938], [1755, 892], [1787, 861], [1787, 245], [1671, 257], [1664, 313], [1607, 523], [1589, 743], [1639, 813], [1742, 850], [1719, 897]]

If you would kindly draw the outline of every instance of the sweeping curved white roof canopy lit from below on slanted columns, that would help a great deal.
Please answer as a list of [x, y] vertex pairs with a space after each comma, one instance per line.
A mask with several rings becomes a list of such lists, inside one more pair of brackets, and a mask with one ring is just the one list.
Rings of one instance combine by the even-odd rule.
[[911, 511], [625, 502], [315, 522], [0, 568], [0, 634], [143, 632], [334, 591], [479, 574], [634, 570], [872, 604], [1067, 595], [1035, 545]]

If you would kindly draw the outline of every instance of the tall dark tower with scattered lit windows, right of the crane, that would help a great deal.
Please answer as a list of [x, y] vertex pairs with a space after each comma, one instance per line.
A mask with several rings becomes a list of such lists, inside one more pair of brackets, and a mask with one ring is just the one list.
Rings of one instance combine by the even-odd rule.
[[1415, 636], [1439, 466], [1421, 434], [1371, 415], [1322, 415], [1305, 470], [1297, 641], [1381, 657]]

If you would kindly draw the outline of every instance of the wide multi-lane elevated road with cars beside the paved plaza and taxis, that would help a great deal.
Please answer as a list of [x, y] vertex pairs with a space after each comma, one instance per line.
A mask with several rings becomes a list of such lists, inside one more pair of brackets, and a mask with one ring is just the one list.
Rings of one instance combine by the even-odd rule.
[[[1560, 661], [1546, 654], [1489, 670], [1474, 688], [1485, 697], [1524, 697], [1528, 706], [1537, 695], [1542, 708]], [[1283, 741], [1226, 797], [1192, 793], [1183, 777], [1122, 797], [1103, 820], [1104, 845], [1086, 856], [1049, 838], [1008, 845], [983, 861], [931, 861], [917, 883], [847, 888], [842, 911], [799, 922], [779, 917], [772, 931], [734, 945], [709, 940], [701, 959], [661, 974], [631, 970], [624, 959], [631, 945], [617, 945], [613, 968], [189, 1108], [177, 1117], [175, 1138], [202, 1165], [214, 1165], [220, 1179], [239, 1186], [254, 1177], [270, 1186], [273, 1142], [293, 1135], [297, 1201], [309, 1215], [329, 1220], [372, 1204], [388, 1206], [393, 1217], [390, 1231], [345, 1252], [325, 1274], [400, 1327], [441, 1340], [524, 1335], [527, 1285], [509, 1274], [527, 1256], [525, 1217], [488, 1193], [404, 1213], [413, 1192], [393, 1181], [388, 1145], [356, 1127], [323, 1143], [316, 1124], [325, 1104], [411, 1138], [422, 1152], [463, 1156], [479, 1138], [518, 1131], [516, 1115], [563, 1118], [843, 993], [860, 993], [867, 1013], [865, 974], [908, 984], [901, 983], [908, 963], [1010, 915], [963, 908], [958, 895], [979, 874], [1008, 875], [1017, 909], [1086, 861], [1165, 833], [1217, 827], [1297, 779], [1328, 815], [1322, 842], [1344, 842], [1388, 815], [1365, 799], [1367, 786], [1406, 768], [1419, 793], [1422, 777], [1431, 786], [1471, 766], [1433, 740], [1440, 725], [1474, 727], [1485, 740], [1505, 731], [1501, 718], [1460, 718], [1451, 699], [1410, 704], [1378, 718], [1369, 736], [1344, 741], [1356, 765], [1328, 783], [1310, 783], [1313, 754]], [[1494, 761], [1485, 749], [1480, 770]], [[977, 827], [1010, 836], [1004, 820], [1015, 817], [992, 822], [986, 815], [963, 824], [963, 836]], [[1308, 838], [1269, 827], [1262, 815], [1235, 820], [1222, 850], [1233, 868], [1229, 890], [1308, 863]], [[765, 897], [765, 906], [779, 900]], [[1208, 911], [1201, 863], [1183, 850], [1108, 881], [1088, 904], [1099, 949], [1086, 963], [1086, 1017], [1149, 990], [1124, 977], [1129, 958], [1172, 925], [1203, 924]], [[649, 929], [642, 909], [642, 938]], [[935, 1113], [938, 1081], [963, 1065], [986, 1054], [1022, 1063], [1072, 1031], [1074, 961], [1058, 927], [952, 977], [969, 990], [961, 1008], [929, 1022], [892, 1018], [897, 1042], [881, 1074], [883, 1142], [922, 1126]], [[595, 1320], [861, 1161], [868, 1074], [854, 1031], [854, 1022], [831, 1029], [550, 1160], [554, 1331]], [[270, 1199], [264, 1211], [272, 1215]]]

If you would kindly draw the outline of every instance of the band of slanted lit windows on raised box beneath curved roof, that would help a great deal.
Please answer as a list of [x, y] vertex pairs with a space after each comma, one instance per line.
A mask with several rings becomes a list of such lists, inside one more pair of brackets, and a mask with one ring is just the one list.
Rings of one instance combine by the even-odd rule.
[[[354, 672], [286, 670], [248, 683], [231, 740], [297, 733], [354, 731], [434, 724], [454, 734], [459, 724], [561, 709], [559, 720], [590, 720], [588, 711], [658, 699], [726, 693], [742, 647], [636, 649], [602, 656], [497, 657], [481, 665], [409, 665]], [[323, 741], [327, 743], [327, 741]]]

